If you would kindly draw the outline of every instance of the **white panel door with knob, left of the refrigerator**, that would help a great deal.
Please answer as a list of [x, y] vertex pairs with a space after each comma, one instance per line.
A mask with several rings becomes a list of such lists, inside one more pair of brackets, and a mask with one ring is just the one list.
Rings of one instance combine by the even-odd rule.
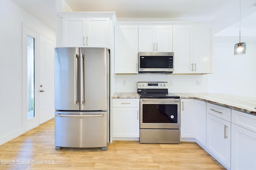
[[39, 37], [39, 124], [54, 117], [55, 42]]

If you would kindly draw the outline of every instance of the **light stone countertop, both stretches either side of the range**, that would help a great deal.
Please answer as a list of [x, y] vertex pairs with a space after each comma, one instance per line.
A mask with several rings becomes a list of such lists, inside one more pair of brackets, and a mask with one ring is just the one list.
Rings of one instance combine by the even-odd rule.
[[[181, 99], [198, 99], [212, 104], [228, 107], [230, 109], [242, 111], [256, 115], [256, 97], [237, 96], [220, 93], [172, 93], [180, 96]], [[138, 93], [115, 93], [113, 99], [138, 99]]]

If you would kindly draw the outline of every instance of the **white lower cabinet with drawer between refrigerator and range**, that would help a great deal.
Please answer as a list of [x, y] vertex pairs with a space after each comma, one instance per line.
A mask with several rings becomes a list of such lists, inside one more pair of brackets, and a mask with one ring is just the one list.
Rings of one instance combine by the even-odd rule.
[[[139, 99], [113, 99], [112, 137], [113, 140], [140, 137]], [[134, 103], [136, 104], [134, 107]], [[122, 105], [123, 104], [123, 105]]]

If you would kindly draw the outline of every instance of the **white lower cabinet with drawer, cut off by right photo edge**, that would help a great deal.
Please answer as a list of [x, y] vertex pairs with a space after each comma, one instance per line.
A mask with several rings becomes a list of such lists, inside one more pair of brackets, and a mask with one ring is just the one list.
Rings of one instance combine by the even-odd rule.
[[231, 169], [256, 169], [256, 116], [232, 110]]

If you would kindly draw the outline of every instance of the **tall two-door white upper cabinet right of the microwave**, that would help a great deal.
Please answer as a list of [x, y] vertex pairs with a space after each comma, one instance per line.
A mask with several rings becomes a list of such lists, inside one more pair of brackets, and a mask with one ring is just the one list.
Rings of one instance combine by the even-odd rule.
[[210, 27], [173, 26], [174, 74], [208, 74], [212, 68]]

